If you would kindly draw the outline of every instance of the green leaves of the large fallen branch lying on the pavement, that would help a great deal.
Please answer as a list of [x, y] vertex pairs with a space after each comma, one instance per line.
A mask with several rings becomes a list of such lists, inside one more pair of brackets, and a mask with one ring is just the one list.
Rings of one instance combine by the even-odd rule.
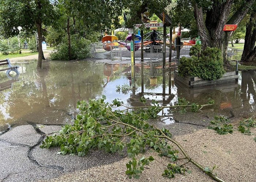
[[[166, 165], [163, 175], [172, 178], [175, 173], [185, 173], [182, 166], [173, 164], [178, 159], [178, 150], [174, 150], [166, 141], [166, 138], [172, 137], [170, 131], [146, 122], [156, 118], [161, 111], [162, 107], [157, 102], [153, 100], [151, 106], [131, 110], [117, 99], [112, 103], [105, 103], [105, 99], [106, 96], [102, 96], [89, 102], [79, 101], [77, 107], [80, 112], [74, 124], [63, 126], [58, 135], [47, 136], [40, 147], [60, 147], [58, 154], [78, 156], [84, 156], [95, 148], [121, 154], [127, 150], [132, 160], [126, 164], [125, 173], [133, 178], [139, 178], [144, 165], [154, 161], [152, 156], [136, 159], [138, 154], [151, 148], [160, 157], [167, 157], [172, 162]], [[117, 110], [119, 106], [127, 109]]]

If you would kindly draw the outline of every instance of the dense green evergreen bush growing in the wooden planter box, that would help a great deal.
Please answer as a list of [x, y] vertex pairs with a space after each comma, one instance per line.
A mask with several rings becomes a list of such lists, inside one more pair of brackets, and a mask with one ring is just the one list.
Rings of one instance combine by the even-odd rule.
[[207, 47], [200, 57], [181, 58], [178, 66], [181, 76], [198, 76], [206, 80], [216, 80], [225, 73], [221, 50]]

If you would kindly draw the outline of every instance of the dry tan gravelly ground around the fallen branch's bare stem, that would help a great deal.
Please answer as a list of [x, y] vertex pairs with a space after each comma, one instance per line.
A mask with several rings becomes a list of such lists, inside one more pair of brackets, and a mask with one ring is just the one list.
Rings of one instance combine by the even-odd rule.
[[[254, 128], [252, 132], [256, 132]], [[203, 166], [212, 167], [217, 165], [214, 170], [217, 176], [229, 182], [254, 182], [256, 180], [256, 142], [253, 135], [248, 136], [234, 131], [233, 134], [218, 135], [214, 130], [202, 129], [191, 134], [178, 136], [176, 141], [184, 147], [191, 158], [198, 161]], [[146, 156], [152, 155], [158, 161], [167, 163], [167, 159], [158, 157], [154, 152], [147, 152]], [[145, 169], [139, 180], [129, 179], [125, 175], [125, 164], [129, 158], [121, 159], [108, 165], [95, 166], [87, 170], [77, 171], [61, 175], [59, 178], [52, 179], [54, 182], [75, 182], [75, 181], [140, 181], [140, 182], [210, 182], [210, 177], [197, 169], [191, 163], [185, 165], [192, 173], [186, 175], [177, 174], [173, 179], [161, 176], [164, 166], [159, 162], [152, 162], [149, 169]], [[186, 161], [179, 161], [180, 164]]]

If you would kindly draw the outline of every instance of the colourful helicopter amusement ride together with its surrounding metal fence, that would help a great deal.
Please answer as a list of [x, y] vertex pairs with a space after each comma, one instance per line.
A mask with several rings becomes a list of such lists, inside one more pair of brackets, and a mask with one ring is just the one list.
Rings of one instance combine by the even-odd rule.
[[[163, 13], [160, 13], [157, 16], [163, 20], [163, 33], [158, 32], [157, 27], [152, 26], [150, 27], [152, 30], [151, 32], [143, 35], [142, 29], [141, 35], [139, 35], [139, 32], [137, 35], [134, 35], [134, 60], [163, 61], [169, 59], [169, 61], [176, 61], [180, 56], [188, 57], [189, 50], [193, 44], [188, 42], [189, 39], [177, 39], [177, 34], [175, 30], [172, 32], [171, 27], [168, 41], [166, 26], [171, 26], [170, 17], [163, 15]], [[152, 24], [154, 25], [154, 23]], [[174, 41], [175, 39], [179, 41]], [[112, 35], [103, 36], [101, 42], [91, 44], [91, 56], [102, 59], [131, 60], [131, 40], [131, 34], [128, 34], [125, 40], [117, 40], [117, 37], [113, 35], [112, 31]]]

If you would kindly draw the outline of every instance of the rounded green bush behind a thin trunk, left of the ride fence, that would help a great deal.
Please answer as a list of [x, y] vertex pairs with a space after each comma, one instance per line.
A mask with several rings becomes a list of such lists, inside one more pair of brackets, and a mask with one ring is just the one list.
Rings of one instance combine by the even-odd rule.
[[[67, 36], [64, 37], [64, 41], [50, 54], [52, 60], [68, 60], [68, 40]], [[89, 40], [83, 37], [76, 38], [71, 36], [71, 60], [84, 59], [90, 54]]]

